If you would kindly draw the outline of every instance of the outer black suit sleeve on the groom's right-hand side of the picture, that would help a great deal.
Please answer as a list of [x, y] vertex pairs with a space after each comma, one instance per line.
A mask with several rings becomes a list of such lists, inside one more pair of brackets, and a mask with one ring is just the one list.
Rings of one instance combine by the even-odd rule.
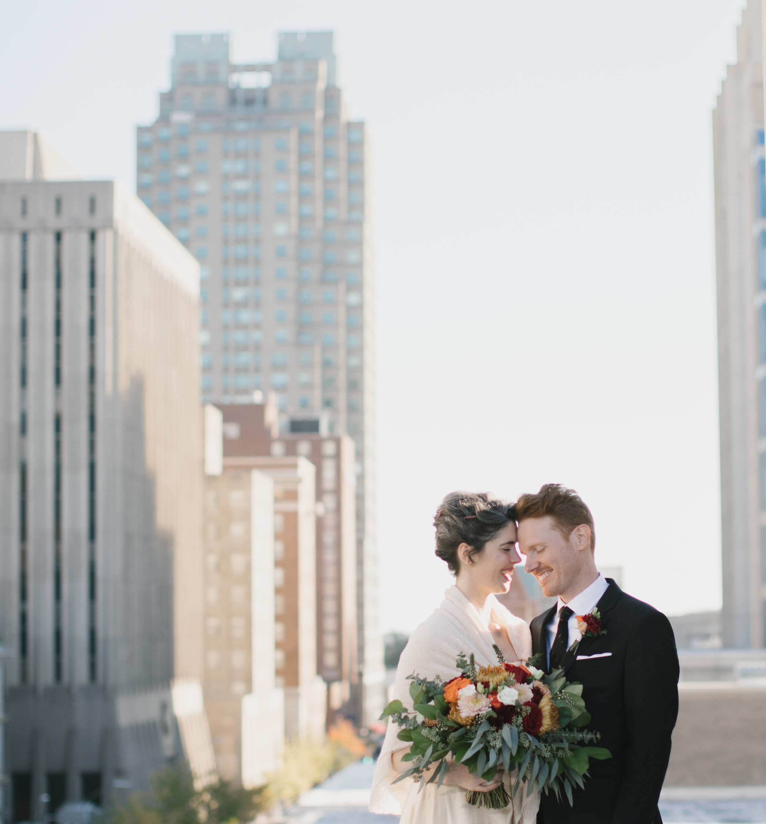
[[679, 713], [678, 682], [679, 657], [670, 621], [651, 611], [637, 622], [627, 644], [627, 761], [612, 824], [655, 820]]

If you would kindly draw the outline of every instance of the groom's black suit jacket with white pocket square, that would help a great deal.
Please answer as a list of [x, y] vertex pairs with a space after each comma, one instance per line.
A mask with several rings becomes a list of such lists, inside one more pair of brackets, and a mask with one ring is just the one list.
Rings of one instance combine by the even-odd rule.
[[[590, 761], [585, 790], [575, 805], [549, 792], [540, 799], [545, 824], [661, 824], [657, 801], [670, 759], [670, 735], [679, 710], [679, 658], [670, 621], [626, 595], [611, 578], [598, 604], [605, 635], [584, 638], [567, 651], [567, 681], [580, 681], [591, 715], [612, 758]], [[532, 621], [532, 651], [546, 663], [546, 625], [556, 605]], [[611, 653], [603, 658], [577, 656]]]

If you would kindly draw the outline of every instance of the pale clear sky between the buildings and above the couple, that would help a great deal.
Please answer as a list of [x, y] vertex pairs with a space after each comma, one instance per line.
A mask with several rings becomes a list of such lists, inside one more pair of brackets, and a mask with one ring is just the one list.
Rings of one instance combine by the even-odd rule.
[[[752, 0], [751, 0], [752, 2]], [[369, 123], [382, 629], [451, 579], [453, 489], [547, 482], [670, 615], [721, 603], [711, 112], [741, 0], [6, 3], [0, 129], [134, 189], [176, 33], [335, 30]]]

